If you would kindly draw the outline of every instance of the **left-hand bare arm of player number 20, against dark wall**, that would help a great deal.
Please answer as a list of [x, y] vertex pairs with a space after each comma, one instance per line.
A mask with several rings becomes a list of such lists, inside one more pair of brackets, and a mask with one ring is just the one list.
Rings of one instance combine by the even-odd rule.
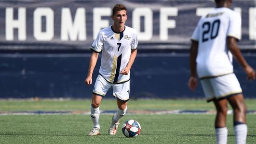
[[194, 91], [197, 87], [197, 78], [196, 78], [196, 57], [198, 50], [198, 41], [192, 40], [190, 47], [190, 78], [188, 81], [188, 87]]

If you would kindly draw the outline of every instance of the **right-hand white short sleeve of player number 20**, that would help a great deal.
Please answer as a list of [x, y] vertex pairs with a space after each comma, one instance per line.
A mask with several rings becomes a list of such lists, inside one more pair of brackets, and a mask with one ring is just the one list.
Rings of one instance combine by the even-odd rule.
[[236, 39], [241, 39], [241, 15], [237, 12], [234, 12], [230, 16], [230, 23], [228, 27], [227, 36], [235, 37]]

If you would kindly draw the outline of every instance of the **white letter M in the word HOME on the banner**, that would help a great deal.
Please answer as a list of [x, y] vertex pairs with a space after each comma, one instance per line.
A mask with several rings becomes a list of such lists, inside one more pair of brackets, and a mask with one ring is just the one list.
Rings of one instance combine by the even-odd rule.
[[86, 40], [85, 8], [77, 8], [74, 22], [69, 8], [61, 10], [61, 40]]

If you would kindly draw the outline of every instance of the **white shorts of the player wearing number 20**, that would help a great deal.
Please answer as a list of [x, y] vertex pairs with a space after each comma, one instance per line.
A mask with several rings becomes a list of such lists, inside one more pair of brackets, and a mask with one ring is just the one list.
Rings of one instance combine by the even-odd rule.
[[242, 88], [234, 73], [201, 79], [207, 101], [242, 93]]

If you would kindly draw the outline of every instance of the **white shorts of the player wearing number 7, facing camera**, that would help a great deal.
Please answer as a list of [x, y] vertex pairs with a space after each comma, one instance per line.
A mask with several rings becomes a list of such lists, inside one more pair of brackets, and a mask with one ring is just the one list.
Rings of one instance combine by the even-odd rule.
[[129, 100], [130, 96], [130, 81], [122, 84], [111, 84], [103, 76], [98, 75], [93, 94], [97, 96], [105, 96], [110, 87], [113, 87], [113, 96], [122, 101]]

